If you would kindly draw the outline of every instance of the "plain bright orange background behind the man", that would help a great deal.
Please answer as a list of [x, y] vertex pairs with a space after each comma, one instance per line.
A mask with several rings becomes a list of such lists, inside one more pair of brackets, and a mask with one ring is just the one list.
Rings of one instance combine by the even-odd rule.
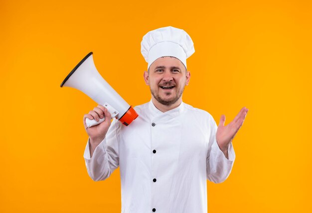
[[249, 108], [208, 212], [312, 212], [311, 11], [308, 0], [1, 0], [0, 212], [120, 212], [119, 170], [93, 182], [83, 159], [82, 118], [97, 104], [60, 83], [93, 51], [129, 104], [148, 102], [140, 42], [168, 25], [195, 45], [183, 101], [217, 124]]

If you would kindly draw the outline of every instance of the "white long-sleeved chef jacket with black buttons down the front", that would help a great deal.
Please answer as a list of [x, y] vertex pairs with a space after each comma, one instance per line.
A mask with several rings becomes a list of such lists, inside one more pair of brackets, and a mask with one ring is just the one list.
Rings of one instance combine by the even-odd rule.
[[113, 120], [92, 158], [88, 140], [89, 176], [105, 180], [120, 167], [122, 213], [207, 213], [206, 180], [227, 179], [235, 159], [232, 144], [227, 159], [216, 142], [213, 117], [183, 102], [167, 112], [152, 100], [135, 110], [139, 117], [127, 127]]

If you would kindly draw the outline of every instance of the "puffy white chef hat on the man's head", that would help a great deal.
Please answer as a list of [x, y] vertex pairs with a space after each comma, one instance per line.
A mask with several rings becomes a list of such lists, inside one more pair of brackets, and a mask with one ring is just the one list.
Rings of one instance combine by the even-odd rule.
[[186, 58], [195, 52], [191, 37], [183, 30], [172, 26], [162, 27], [148, 32], [141, 42], [141, 53], [151, 64], [162, 56], [173, 56], [186, 67]]

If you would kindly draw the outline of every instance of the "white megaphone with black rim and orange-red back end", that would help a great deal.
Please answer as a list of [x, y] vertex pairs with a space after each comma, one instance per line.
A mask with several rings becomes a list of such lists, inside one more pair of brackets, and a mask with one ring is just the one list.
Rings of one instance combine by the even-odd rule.
[[[118, 119], [122, 124], [128, 126], [138, 117], [137, 112], [130, 106], [100, 75], [93, 62], [93, 52], [87, 54], [67, 75], [61, 83], [61, 87], [76, 88], [98, 104], [107, 108], [111, 118]], [[98, 122], [86, 119], [88, 127], [102, 123], [105, 117]]]

